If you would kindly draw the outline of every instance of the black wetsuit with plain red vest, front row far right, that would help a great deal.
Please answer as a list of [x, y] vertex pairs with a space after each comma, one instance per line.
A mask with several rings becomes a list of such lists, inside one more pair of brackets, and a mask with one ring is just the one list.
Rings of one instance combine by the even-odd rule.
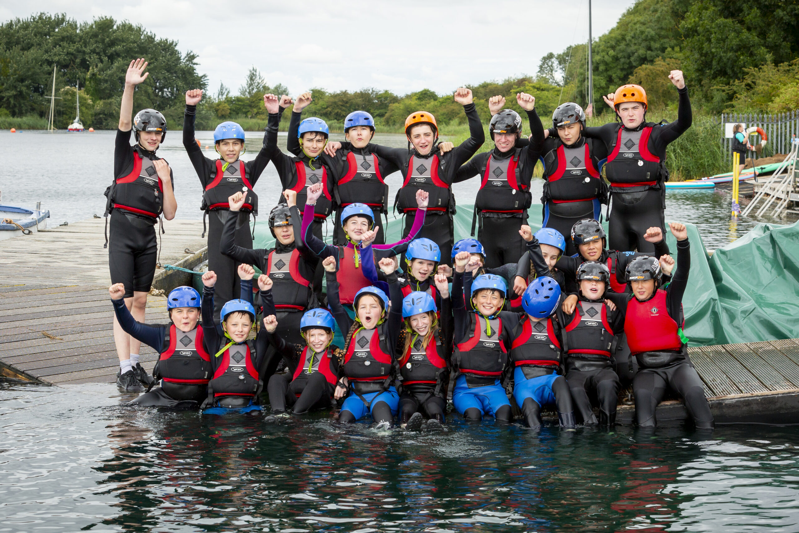
[[[628, 341], [635, 335], [633, 330], [639, 329], [642, 330], [640, 336], [643, 344], [653, 344], [652, 339], [657, 339], [654, 344], [658, 344], [661, 338], [664, 339], [662, 345], [650, 346], [644, 352], [636, 349], [638, 340], [630, 342], [630, 349], [634, 350], [633, 355], [638, 360], [639, 368], [633, 379], [635, 418], [638, 425], [657, 425], [655, 409], [666, 390], [671, 389], [685, 400], [686, 410], [693, 417], [697, 428], [713, 428], [713, 415], [705, 397], [702, 378], [688, 359], [687, 345], [677, 332], [659, 327], [664, 319], [670, 317], [676, 323], [672, 325], [673, 330], [682, 328], [682, 295], [688, 285], [690, 270], [690, 244], [687, 239], [677, 242], [677, 251], [677, 271], [665, 290], [655, 290], [645, 302], [638, 302], [631, 293], [608, 294], [607, 297], [614, 301], [625, 319]], [[658, 308], [659, 301], [666, 304], [667, 316], [664, 316], [662, 307]], [[640, 315], [630, 315], [630, 312], [636, 312], [639, 308], [643, 309]]]

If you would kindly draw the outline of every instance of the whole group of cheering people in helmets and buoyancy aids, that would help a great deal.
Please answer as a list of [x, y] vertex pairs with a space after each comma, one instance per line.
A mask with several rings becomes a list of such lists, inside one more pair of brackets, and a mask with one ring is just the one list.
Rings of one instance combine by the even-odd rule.
[[[669, 77], [679, 93], [670, 124], [646, 121], [640, 86], [604, 97], [617, 121], [598, 128], [566, 103], [543, 129], [535, 98], [519, 93], [528, 138], [519, 113], [492, 97], [494, 148], [476, 155], [485, 136], [469, 89], [454, 97], [470, 138], [439, 142], [435, 117], [419, 111], [405, 123], [407, 149], [372, 143], [376, 125], [364, 111], [344, 121], [346, 141], [329, 141], [324, 121], [302, 118], [311, 93], [296, 101], [266, 94], [264, 144], [251, 161], [240, 160], [244, 131], [235, 122], [217, 126], [219, 157], [205, 157], [194, 138], [202, 91], [189, 90], [183, 141], [204, 189], [209, 271], [202, 294], [169, 292], [168, 323], [146, 324], [155, 225], [174, 217], [177, 204], [169, 165], [156, 155], [164, 117], [144, 109], [130, 121], [145, 68], [135, 60], [125, 78], [106, 193], [117, 384], [146, 389], [133, 404], [251, 412], [268, 396], [272, 414], [288, 416], [340, 402], [341, 423], [371, 418], [419, 429], [445, 423], [448, 400], [466, 420], [511, 422], [512, 400], [531, 428], [543, 424], [547, 406], [572, 428], [614, 424], [618, 394], [631, 384], [639, 426], [657, 424], [655, 409], [671, 392], [698, 428], [713, 428], [682, 332], [686, 226], [670, 223], [676, 261], [665, 239], [666, 146], [691, 121], [682, 72]], [[289, 106], [291, 155], [277, 147]], [[275, 242], [252, 249], [253, 187], [269, 161], [283, 188], [268, 218]], [[543, 228], [534, 233], [527, 209], [539, 161]], [[404, 177], [394, 204], [405, 217], [403, 238], [387, 244], [384, 178], [396, 171]], [[452, 184], [475, 176], [478, 237], [455, 241]], [[609, 201], [606, 235], [600, 207]], [[333, 244], [322, 235], [328, 217]], [[142, 342], [160, 354], [152, 376], [138, 362]]]

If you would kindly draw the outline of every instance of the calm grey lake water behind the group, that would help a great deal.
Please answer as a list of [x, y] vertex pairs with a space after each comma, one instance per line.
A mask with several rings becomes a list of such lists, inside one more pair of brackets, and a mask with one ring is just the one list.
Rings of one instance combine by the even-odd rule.
[[[185, 153], [180, 131], [167, 133], [165, 144], [159, 154], [165, 157], [173, 169], [175, 177], [175, 196], [177, 198], [177, 217], [199, 219], [201, 187], [197, 174]], [[0, 191], [2, 203], [34, 207], [42, 202], [43, 209], [50, 209], [50, 225], [65, 221], [79, 221], [97, 214], [102, 216], [105, 197], [102, 193], [113, 177], [113, 131], [93, 133], [69, 133], [59, 131], [24, 131], [22, 133], [0, 132], [0, 158], [2, 161], [25, 159], [27, 162], [17, 167], [7, 163], [0, 168]], [[342, 134], [333, 134], [333, 140], [343, 139]], [[262, 133], [248, 132], [246, 143], [248, 153], [244, 160], [252, 159], [262, 144]], [[205, 147], [208, 157], [213, 157], [213, 132], [197, 132], [197, 139]], [[378, 134], [375, 141], [390, 146], [404, 147], [407, 141], [399, 134]], [[286, 136], [278, 137], [280, 148], [285, 152]], [[400, 187], [400, 173], [387, 178], [391, 195]], [[472, 179], [455, 184], [455, 196], [459, 203], [473, 203], [479, 180]], [[540, 209], [539, 198], [543, 188], [542, 180], [533, 182], [534, 205]], [[280, 197], [280, 180], [273, 165], [268, 165], [261, 175], [256, 192], [260, 205], [276, 204]], [[698, 225], [705, 245], [715, 249], [740, 237], [752, 229], [757, 222], [768, 221], [777, 224], [785, 221], [770, 218], [742, 218], [736, 225], [729, 222], [730, 195], [725, 191], [712, 189], [694, 191], [670, 191], [666, 194], [666, 219], [693, 222]], [[268, 209], [261, 209], [268, 213]], [[265, 219], [264, 219], [265, 220]]]

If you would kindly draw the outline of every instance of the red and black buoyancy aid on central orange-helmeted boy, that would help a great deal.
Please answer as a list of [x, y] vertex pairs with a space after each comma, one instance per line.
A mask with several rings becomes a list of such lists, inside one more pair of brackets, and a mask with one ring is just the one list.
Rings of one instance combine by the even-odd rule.
[[454, 205], [449, 185], [439, 178], [439, 157], [411, 156], [407, 163], [407, 173], [402, 187], [397, 191], [396, 206], [402, 213], [414, 213], [416, 206], [416, 191], [422, 189], [430, 193], [427, 201], [427, 213], [438, 213], [451, 210]]

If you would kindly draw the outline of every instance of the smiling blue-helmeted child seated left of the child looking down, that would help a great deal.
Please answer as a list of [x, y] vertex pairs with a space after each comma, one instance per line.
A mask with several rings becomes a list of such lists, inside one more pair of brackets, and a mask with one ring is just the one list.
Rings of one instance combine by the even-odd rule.
[[[466, 420], [479, 421], [484, 415], [511, 420], [511, 404], [502, 386], [507, 371], [507, 352], [519, 315], [502, 311], [507, 296], [505, 280], [494, 274], [475, 277], [469, 292], [463, 287], [464, 272], [474, 272], [479, 262], [468, 252], [455, 256], [452, 308], [455, 314], [455, 389], [452, 403]], [[467, 310], [466, 305], [471, 310]]]

